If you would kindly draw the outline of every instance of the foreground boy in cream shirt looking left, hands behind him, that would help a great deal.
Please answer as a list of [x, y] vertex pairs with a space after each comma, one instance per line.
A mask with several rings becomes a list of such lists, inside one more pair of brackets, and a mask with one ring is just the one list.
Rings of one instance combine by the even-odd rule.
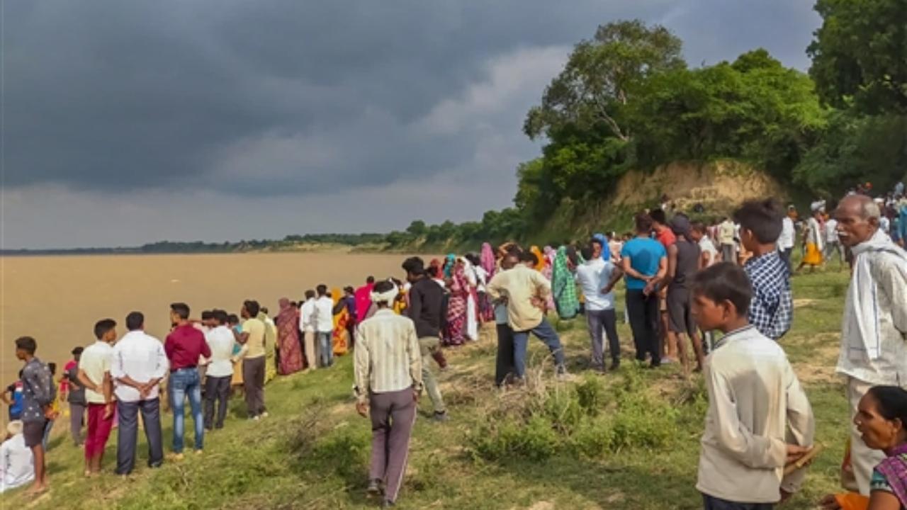
[[[800, 486], [800, 470], [784, 467], [813, 444], [813, 411], [784, 350], [746, 319], [751, 289], [732, 262], [702, 270], [693, 280], [699, 327], [720, 330], [706, 361], [706, 430], [697, 489], [706, 510], [770, 510]], [[790, 427], [789, 440], [785, 432]]]

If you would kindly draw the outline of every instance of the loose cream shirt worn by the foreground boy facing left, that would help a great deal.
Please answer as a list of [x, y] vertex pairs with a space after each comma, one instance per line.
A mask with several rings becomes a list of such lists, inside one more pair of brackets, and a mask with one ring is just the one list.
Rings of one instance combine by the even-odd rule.
[[786, 445], [812, 446], [814, 418], [785, 351], [753, 326], [738, 329], [717, 342], [705, 378], [697, 489], [742, 503], [775, 503], [780, 488], [796, 492], [805, 472], [783, 478]]

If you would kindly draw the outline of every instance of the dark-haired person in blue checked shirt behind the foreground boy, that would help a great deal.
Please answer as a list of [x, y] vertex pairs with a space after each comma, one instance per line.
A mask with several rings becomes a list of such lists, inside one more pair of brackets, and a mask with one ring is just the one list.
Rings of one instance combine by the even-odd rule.
[[753, 285], [749, 322], [766, 337], [777, 340], [785, 336], [794, 318], [790, 269], [775, 247], [784, 211], [772, 199], [747, 201], [736, 211], [734, 220], [740, 224], [740, 242], [753, 252], [743, 268]]

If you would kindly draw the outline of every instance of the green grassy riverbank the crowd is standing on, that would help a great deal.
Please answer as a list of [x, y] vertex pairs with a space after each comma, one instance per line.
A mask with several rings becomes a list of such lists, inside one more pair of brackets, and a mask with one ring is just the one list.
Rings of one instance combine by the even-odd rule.
[[[817, 439], [827, 449], [789, 508], [811, 508], [838, 486], [848, 412], [834, 364], [846, 284], [846, 273], [836, 272], [794, 280], [794, 328], [782, 345], [806, 387]], [[701, 507], [695, 489], [706, 405], [701, 381], [685, 380], [677, 366], [634, 368], [629, 329], [622, 323], [624, 367], [604, 377], [584, 375], [589, 346], [581, 319], [556, 321], [556, 327], [578, 375], [571, 383], [552, 380], [547, 352], [533, 342], [528, 387], [493, 391], [493, 329], [476, 344], [447, 351], [451, 368], [441, 380], [452, 419], [443, 425], [417, 421], [400, 508]], [[369, 426], [356, 415], [350, 387], [349, 357], [329, 370], [278, 378], [266, 390], [270, 417], [244, 419], [243, 403], [234, 398], [227, 427], [205, 437], [202, 456], [167, 461], [161, 469], [144, 467], [140, 433], [139, 467], [127, 480], [111, 473], [115, 434], [105, 474], [88, 480], [81, 476], [81, 450], [61, 434], [48, 456], [52, 490], [35, 500], [24, 499], [21, 491], [4, 495], [2, 506], [375, 507], [365, 495]], [[429, 412], [427, 398], [421, 410]], [[172, 417], [165, 415], [163, 422], [168, 446]]]

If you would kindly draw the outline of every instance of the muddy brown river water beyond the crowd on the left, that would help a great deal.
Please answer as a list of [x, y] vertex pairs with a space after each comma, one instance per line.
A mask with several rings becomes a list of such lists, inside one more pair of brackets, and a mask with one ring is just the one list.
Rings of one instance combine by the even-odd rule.
[[327, 251], [0, 258], [0, 383], [13, 382], [22, 368], [14, 340], [24, 335], [37, 340], [38, 358], [57, 363], [59, 376], [72, 349], [94, 341], [98, 319], [116, 320], [122, 335], [126, 314], [139, 310], [146, 331], [163, 338], [174, 301], [188, 303], [198, 317], [214, 308], [239, 315], [244, 299], [258, 299], [273, 316], [278, 299], [301, 299], [319, 283], [342, 288], [358, 287], [368, 275], [403, 279], [405, 257]]

